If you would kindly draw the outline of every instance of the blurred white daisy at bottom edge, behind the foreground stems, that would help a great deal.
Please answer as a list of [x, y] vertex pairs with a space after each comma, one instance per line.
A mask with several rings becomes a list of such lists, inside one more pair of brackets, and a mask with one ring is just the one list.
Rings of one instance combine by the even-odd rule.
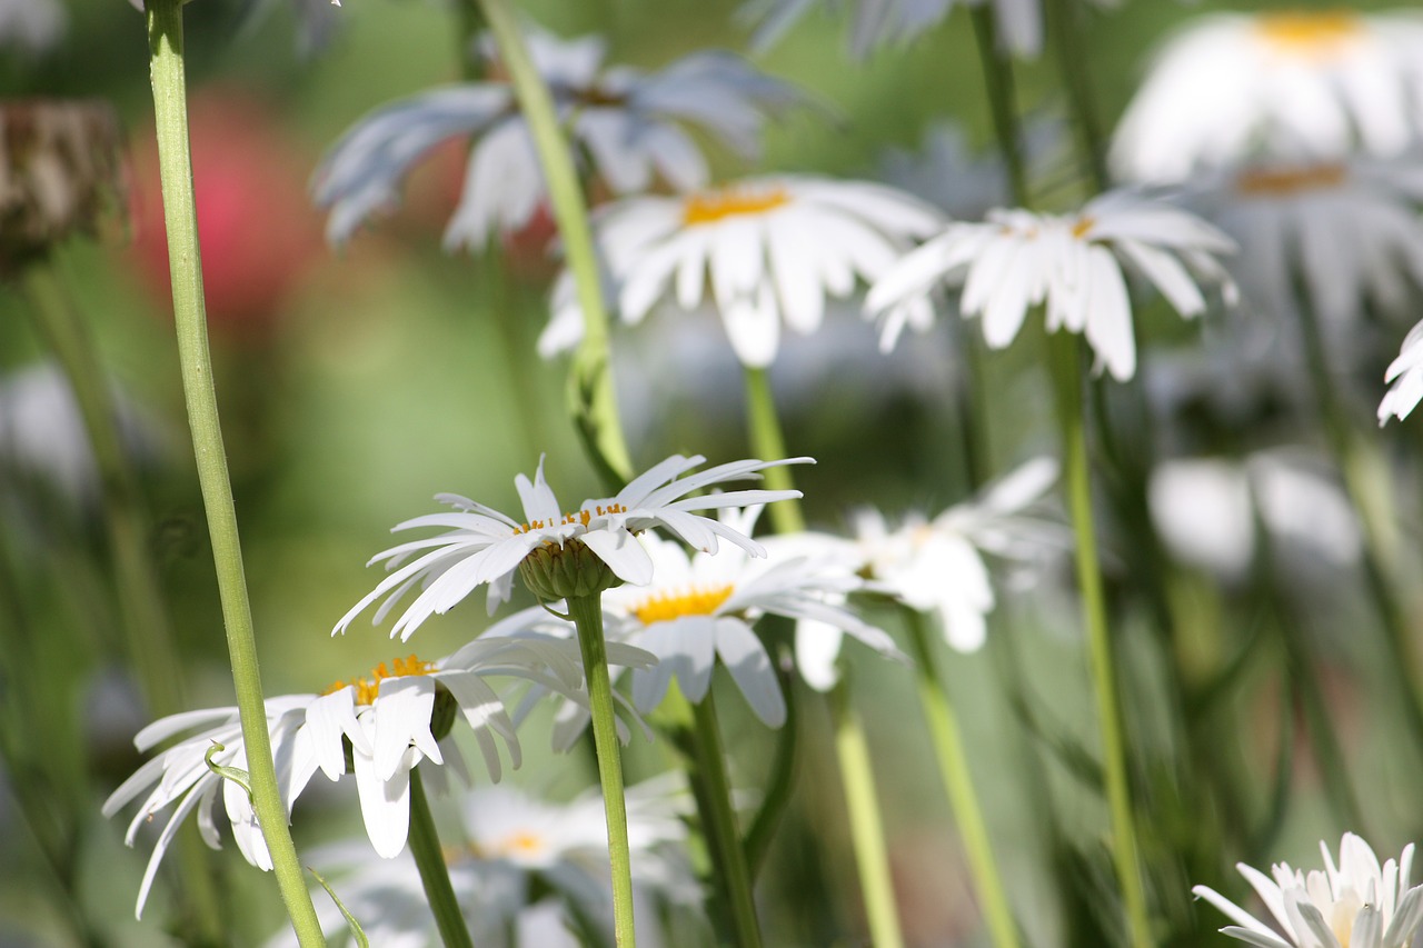
[[[657, 908], [694, 904], [699, 887], [682, 851], [686, 838], [686, 793], [666, 777], [628, 789], [628, 838], [632, 848], [638, 942], [666, 944]], [[608, 833], [602, 797], [585, 793], [564, 804], [546, 803], [518, 790], [472, 790], [462, 799], [465, 843], [445, 848], [455, 898], [478, 945], [575, 948], [573, 932], [595, 939], [612, 935], [612, 890], [608, 885]], [[349, 874], [334, 881], [347, 910], [366, 937], [383, 948], [440, 945], [440, 934], [414, 861], [408, 857], [371, 863], [359, 843], [314, 850], [306, 860], [322, 873]], [[346, 920], [326, 900], [317, 914], [329, 938], [340, 939]], [[552, 915], [552, 918], [548, 918]], [[508, 939], [514, 929], [515, 938]], [[268, 948], [296, 945], [287, 928]]]

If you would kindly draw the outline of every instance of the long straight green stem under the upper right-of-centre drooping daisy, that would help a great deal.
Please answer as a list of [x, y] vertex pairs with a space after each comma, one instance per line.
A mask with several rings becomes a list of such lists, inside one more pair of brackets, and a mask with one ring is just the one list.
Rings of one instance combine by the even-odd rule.
[[1107, 783], [1107, 807], [1111, 811], [1113, 860], [1133, 948], [1151, 948], [1151, 925], [1143, 890], [1141, 858], [1137, 850], [1131, 791], [1127, 784], [1127, 752], [1123, 737], [1121, 709], [1117, 702], [1117, 678], [1111, 659], [1111, 633], [1107, 629], [1107, 605], [1097, 562], [1097, 538], [1093, 534], [1091, 484], [1087, 467], [1087, 430], [1083, 418], [1081, 366], [1077, 337], [1056, 333], [1053, 381], [1057, 389], [1057, 421], [1063, 438], [1063, 467], [1067, 507], [1077, 537], [1077, 584], [1081, 592], [1083, 619], [1091, 655], [1091, 680], [1097, 700], [1097, 725], [1101, 729], [1103, 776]]

